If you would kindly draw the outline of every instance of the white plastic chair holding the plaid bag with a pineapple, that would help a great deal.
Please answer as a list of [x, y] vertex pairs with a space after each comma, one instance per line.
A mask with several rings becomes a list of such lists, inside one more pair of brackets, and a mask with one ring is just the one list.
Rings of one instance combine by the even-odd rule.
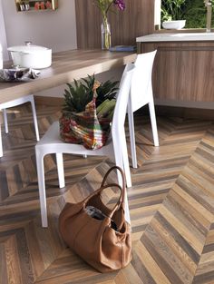
[[[35, 157], [43, 227], [47, 227], [48, 225], [44, 181], [44, 156], [46, 154], [56, 154], [56, 164], [60, 188], [64, 187], [63, 153], [112, 157], [115, 159], [116, 165], [120, 166], [123, 169], [126, 177], [127, 187], [131, 187], [131, 172], [125, 140], [124, 122], [131, 87], [132, 72], [133, 70], [127, 72], [124, 75], [112, 120], [112, 136], [109, 137], [108, 142], [101, 149], [87, 150], [83, 147], [83, 145], [63, 142], [59, 136], [59, 122], [53, 122], [48, 131], [44, 133], [44, 137], [41, 139], [41, 141], [36, 144]], [[120, 177], [120, 175], [118, 177]], [[122, 180], [120, 178], [119, 182], [120, 184], [122, 184]], [[127, 197], [125, 216], [126, 220], [130, 221]]]

